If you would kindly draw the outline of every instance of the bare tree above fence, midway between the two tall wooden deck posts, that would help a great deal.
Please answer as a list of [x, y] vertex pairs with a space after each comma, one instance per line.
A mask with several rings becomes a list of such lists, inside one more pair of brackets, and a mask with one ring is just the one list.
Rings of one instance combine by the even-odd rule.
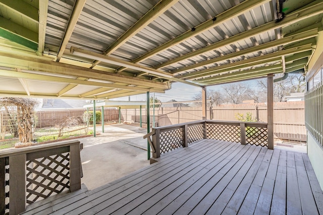
[[247, 92], [249, 91], [249, 86], [243, 84], [230, 84], [223, 87], [225, 91], [225, 96], [228, 102], [233, 104], [239, 104], [243, 99], [247, 97]]

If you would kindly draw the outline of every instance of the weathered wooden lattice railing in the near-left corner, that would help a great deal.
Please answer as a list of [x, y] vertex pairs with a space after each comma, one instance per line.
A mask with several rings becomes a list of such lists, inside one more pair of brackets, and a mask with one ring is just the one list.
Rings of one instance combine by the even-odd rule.
[[18, 214], [36, 200], [80, 188], [78, 140], [0, 152], [0, 214]]

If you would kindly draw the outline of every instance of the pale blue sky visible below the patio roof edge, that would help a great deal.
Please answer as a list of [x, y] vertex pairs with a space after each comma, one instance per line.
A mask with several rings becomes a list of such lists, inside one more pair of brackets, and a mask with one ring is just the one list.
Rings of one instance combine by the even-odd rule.
[[[243, 82], [239, 82], [239, 83], [249, 85], [249, 87], [251, 89], [255, 88], [257, 86], [256, 80], [243, 81]], [[225, 84], [210, 86], [210, 87], [207, 87], [207, 89], [212, 89], [212, 90], [216, 90], [216, 91], [223, 93], [224, 86], [225, 86]], [[157, 97], [157, 99], [159, 99], [161, 102], [167, 102], [172, 99], [174, 99], [178, 102], [190, 101], [190, 100], [194, 100], [193, 99], [194, 95], [198, 94], [199, 92], [201, 92], [201, 88], [199, 88], [199, 87], [194, 87], [194, 86], [182, 84], [182, 83], [173, 83], [171, 90], [167, 90], [167, 91], [165, 91], [165, 93], [155, 93], [155, 97]], [[136, 95], [136, 96], [130, 96], [130, 100], [131, 101], [146, 101], [146, 96], [147, 96], [146, 93]], [[151, 96], [153, 96], [153, 93], [150, 93], [150, 97]], [[127, 97], [122, 97], [122, 98], [117, 98], [117, 99], [112, 99], [112, 100], [128, 101], [129, 97], [127, 96]]]

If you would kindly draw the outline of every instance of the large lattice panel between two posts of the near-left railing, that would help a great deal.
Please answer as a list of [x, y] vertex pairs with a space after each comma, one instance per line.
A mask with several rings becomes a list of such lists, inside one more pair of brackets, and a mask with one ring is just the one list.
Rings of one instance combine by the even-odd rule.
[[69, 160], [69, 153], [63, 153], [26, 162], [28, 204], [70, 187]]

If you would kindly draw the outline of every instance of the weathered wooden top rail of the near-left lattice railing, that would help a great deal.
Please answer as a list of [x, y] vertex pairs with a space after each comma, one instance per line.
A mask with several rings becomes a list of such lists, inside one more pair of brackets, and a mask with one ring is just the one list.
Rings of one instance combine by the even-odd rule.
[[21, 154], [28, 154], [28, 153], [34, 153], [39, 152], [43, 150], [53, 150], [57, 148], [64, 148], [74, 145], [79, 145], [79, 140], [65, 140], [60, 142], [53, 142], [50, 144], [44, 144], [44, 145], [36, 145], [36, 146], [30, 146], [20, 149], [9, 149], [9, 150], [2, 150], [0, 151], [0, 158], [15, 156], [15, 155], [21, 155]]

